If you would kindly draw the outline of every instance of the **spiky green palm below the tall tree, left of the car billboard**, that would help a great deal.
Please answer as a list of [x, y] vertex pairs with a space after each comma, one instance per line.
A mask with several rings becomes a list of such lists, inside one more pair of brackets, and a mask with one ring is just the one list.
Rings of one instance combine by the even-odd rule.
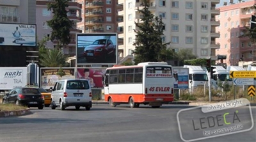
[[67, 67], [67, 57], [58, 49], [47, 49], [42, 53], [40, 65], [42, 67]]

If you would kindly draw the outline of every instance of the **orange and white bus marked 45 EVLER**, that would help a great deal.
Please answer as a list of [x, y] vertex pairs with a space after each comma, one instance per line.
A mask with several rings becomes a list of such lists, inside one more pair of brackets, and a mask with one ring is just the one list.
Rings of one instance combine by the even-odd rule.
[[166, 62], [147, 62], [133, 66], [111, 67], [104, 75], [105, 101], [115, 107], [140, 104], [154, 108], [173, 101], [173, 69]]

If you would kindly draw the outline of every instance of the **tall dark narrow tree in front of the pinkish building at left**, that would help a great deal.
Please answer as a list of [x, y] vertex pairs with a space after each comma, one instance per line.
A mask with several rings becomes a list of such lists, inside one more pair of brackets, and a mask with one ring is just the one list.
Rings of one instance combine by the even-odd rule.
[[47, 4], [48, 10], [54, 14], [47, 24], [52, 29], [51, 41], [58, 40], [58, 49], [70, 43], [70, 28], [72, 21], [68, 19], [67, 10], [69, 0], [54, 0]]

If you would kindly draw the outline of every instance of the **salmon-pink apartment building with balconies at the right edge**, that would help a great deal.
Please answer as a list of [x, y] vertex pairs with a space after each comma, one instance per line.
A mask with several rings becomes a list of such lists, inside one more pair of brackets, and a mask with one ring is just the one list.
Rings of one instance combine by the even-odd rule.
[[246, 27], [250, 27], [250, 19], [255, 13], [253, 1], [239, 1], [238, 3], [225, 3], [220, 7], [220, 15], [216, 19], [220, 20], [220, 26], [216, 31], [220, 32], [220, 38], [216, 41], [220, 43], [220, 49], [216, 54], [225, 54], [227, 59], [223, 61], [227, 65], [238, 65], [238, 62], [253, 61], [256, 59], [255, 45], [248, 37], [243, 37]]

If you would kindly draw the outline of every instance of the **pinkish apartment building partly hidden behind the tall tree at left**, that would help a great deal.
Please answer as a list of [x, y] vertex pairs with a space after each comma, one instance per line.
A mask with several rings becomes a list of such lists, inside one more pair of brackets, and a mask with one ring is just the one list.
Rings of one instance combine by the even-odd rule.
[[[47, 3], [51, 3], [52, 0], [36, 0], [36, 26], [38, 40], [42, 40], [44, 36], [51, 35], [51, 28], [47, 25], [47, 20], [51, 20], [53, 13], [47, 10]], [[63, 47], [63, 54], [68, 56], [76, 55], [76, 34], [82, 31], [77, 28], [77, 22], [82, 21], [81, 10], [82, 4], [72, 0], [68, 2], [68, 19], [72, 20], [72, 29], [70, 29], [71, 42], [67, 47]], [[54, 48], [58, 44], [58, 41], [48, 41], [47, 47]]]

